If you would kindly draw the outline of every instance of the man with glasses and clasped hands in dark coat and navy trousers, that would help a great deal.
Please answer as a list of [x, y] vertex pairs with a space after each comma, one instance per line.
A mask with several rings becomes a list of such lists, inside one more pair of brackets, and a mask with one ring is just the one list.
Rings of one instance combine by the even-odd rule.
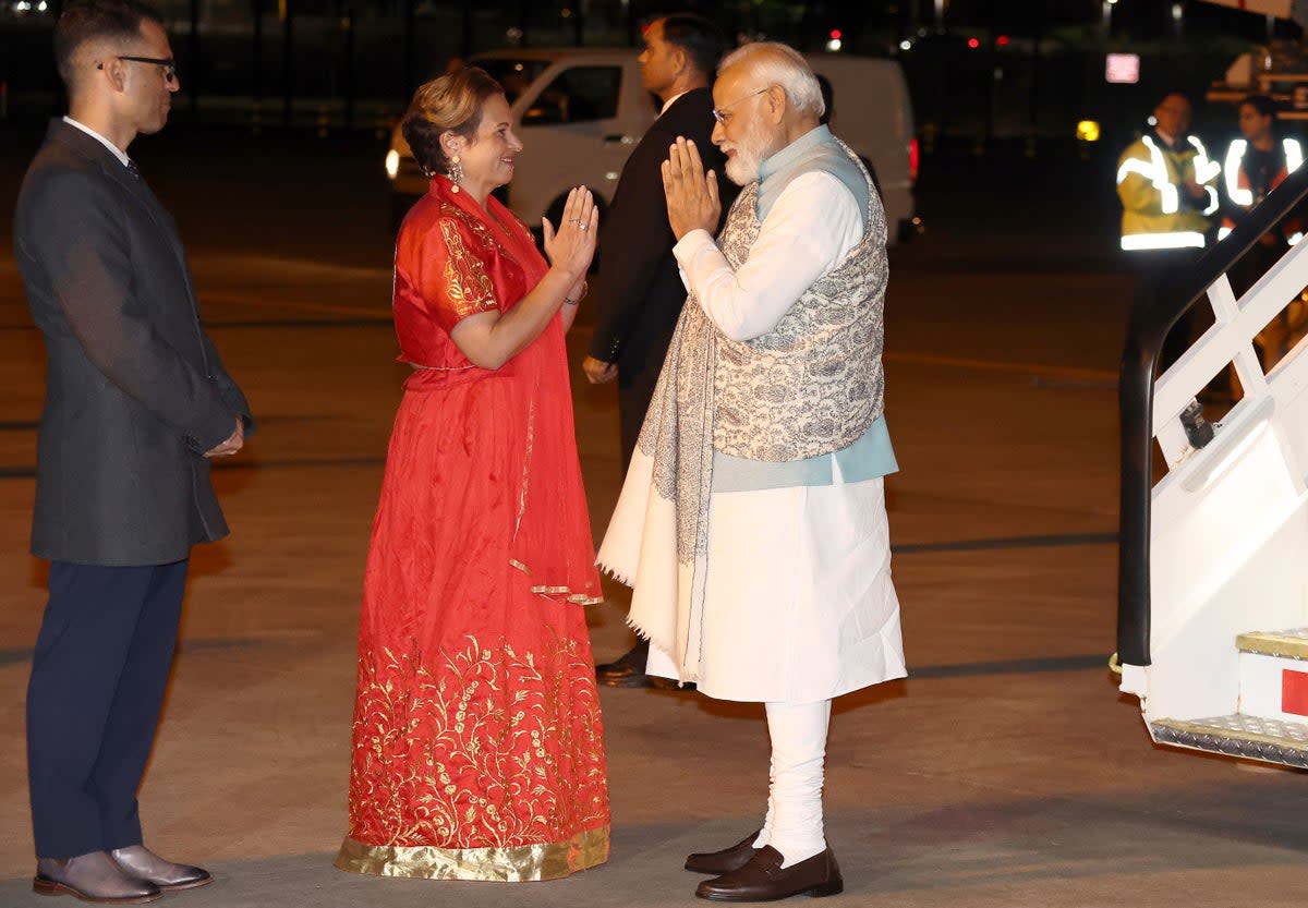
[[81, 0], [55, 27], [68, 116], [18, 194], [14, 253], [44, 335], [31, 551], [50, 599], [27, 687], [35, 891], [149, 901], [211, 882], [146, 850], [136, 789], [154, 741], [191, 546], [228, 527], [209, 458], [250, 407], [200, 323], [173, 218], [127, 157], [167, 120], [158, 14]]

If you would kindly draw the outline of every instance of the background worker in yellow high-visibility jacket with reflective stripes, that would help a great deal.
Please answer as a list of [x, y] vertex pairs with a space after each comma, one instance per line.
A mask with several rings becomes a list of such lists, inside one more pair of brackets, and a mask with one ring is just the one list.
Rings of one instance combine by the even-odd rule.
[[[1203, 143], [1189, 133], [1190, 101], [1184, 94], [1164, 96], [1150, 124], [1152, 128], [1131, 143], [1117, 164], [1121, 243], [1141, 275], [1142, 305], [1173, 284], [1207, 246], [1222, 173]], [[1197, 327], [1194, 313], [1177, 322], [1163, 344], [1164, 369], [1189, 347]]]

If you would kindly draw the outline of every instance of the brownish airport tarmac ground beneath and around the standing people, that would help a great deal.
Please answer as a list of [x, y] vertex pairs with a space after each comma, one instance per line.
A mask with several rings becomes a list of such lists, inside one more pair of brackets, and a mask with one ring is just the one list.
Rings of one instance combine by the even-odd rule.
[[[35, 132], [0, 145], [0, 208]], [[388, 200], [370, 139], [141, 140], [211, 332], [262, 419], [217, 472], [233, 534], [194, 557], [183, 642], [141, 792], [146, 841], [199, 862], [195, 908], [695, 904], [685, 853], [740, 839], [766, 795], [761, 709], [604, 690], [612, 857], [552, 883], [374, 879], [345, 828], [354, 631], [404, 369]], [[530, 148], [527, 149], [530, 153]], [[929, 230], [891, 259], [887, 483], [910, 675], [842, 697], [828, 840], [869, 908], [1303, 904], [1298, 772], [1150, 744], [1114, 649], [1116, 369], [1130, 280], [1105, 167], [942, 152]], [[0, 230], [5, 230], [0, 226]], [[0, 905], [31, 895], [24, 690], [44, 604], [26, 555], [41, 339], [0, 246]], [[570, 338], [579, 362], [583, 318]], [[617, 495], [612, 386], [573, 387], [596, 538]], [[627, 648], [625, 591], [590, 611]]]

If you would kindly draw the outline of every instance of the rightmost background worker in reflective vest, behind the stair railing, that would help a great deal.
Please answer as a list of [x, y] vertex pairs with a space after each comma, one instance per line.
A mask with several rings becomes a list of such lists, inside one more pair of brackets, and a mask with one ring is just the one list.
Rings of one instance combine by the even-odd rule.
[[[1265, 94], [1250, 94], [1240, 102], [1240, 139], [1231, 143], [1224, 158], [1219, 241], [1304, 162], [1303, 145], [1298, 139], [1281, 135], [1277, 103]], [[1298, 215], [1286, 217], [1262, 234], [1227, 275], [1236, 294], [1253, 287], [1303, 236], [1304, 225]], [[1292, 300], [1278, 318], [1254, 336], [1264, 368], [1284, 356], [1305, 324], [1308, 306], [1303, 300]]]

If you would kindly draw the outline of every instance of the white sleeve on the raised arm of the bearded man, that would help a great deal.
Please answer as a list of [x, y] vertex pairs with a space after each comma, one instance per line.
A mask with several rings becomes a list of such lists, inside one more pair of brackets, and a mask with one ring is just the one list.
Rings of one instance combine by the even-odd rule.
[[672, 255], [704, 314], [732, 340], [749, 340], [772, 331], [862, 238], [863, 213], [853, 194], [836, 177], [812, 171], [777, 196], [739, 271], [708, 230], [691, 230]]

